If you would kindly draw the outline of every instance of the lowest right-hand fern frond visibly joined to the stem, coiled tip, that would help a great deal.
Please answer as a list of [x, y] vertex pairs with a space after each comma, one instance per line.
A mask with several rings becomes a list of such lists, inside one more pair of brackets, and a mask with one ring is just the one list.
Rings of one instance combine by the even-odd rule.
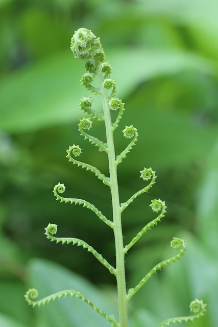
[[159, 264], [155, 265], [152, 270], [144, 276], [141, 281], [138, 283], [138, 285], [135, 288], [129, 289], [127, 299], [130, 300], [130, 298], [146, 283], [148, 280], [152, 277], [154, 273], [156, 273], [158, 270], [161, 270], [166, 265], [170, 265], [172, 262], [175, 262], [176, 260], [180, 259], [181, 256], [184, 254], [186, 250], [186, 244], [183, 240], [178, 238], [173, 238], [173, 241], [171, 241], [171, 247], [173, 247], [175, 250], [180, 249], [179, 253], [172, 256], [172, 258], [166, 259], [164, 261], [161, 261]]

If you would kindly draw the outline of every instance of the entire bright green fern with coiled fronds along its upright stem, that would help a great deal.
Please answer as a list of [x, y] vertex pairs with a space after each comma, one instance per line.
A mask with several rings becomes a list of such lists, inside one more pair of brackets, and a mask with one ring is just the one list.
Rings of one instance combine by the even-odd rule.
[[[140, 237], [146, 233], [151, 227], [157, 225], [157, 223], [164, 217], [166, 213], [166, 205], [164, 201], [153, 200], [150, 204], [154, 213], [157, 213], [158, 216], [153, 219], [150, 223], [144, 226], [141, 231], [132, 239], [132, 241], [124, 246], [123, 243], [123, 233], [122, 233], [122, 221], [121, 216], [123, 211], [128, 207], [128, 205], [133, 202], [133, 200], [141, 195], [146, 193], [153, 186], [156, 180], [155, 172], [151, 168], [144, 168], [140, 171], [140, 177], [144, 181], [149, 183], [140, 191], [136, 192], [131, 196], [126, 202], [119, 202], [119, 191], [117, 184], [117, 165], [120, 164], [124, 158], [126, 158], [128, 152], [135, 145], [138, 137], [137, 129], [132, 125], [126, 126], [123, 130], [124, 136], [128, 139], [131, 139], [129, 145], [124, 151], [119, 155], [115, 156], [114, 141], [113, 141], [113, 132], [118, 127], [120, 119], [122, 118], [124, 112], [124, 103], [122, 100], [116, 98], [116, 82], [110, 77], [111, 75], [111, 65], [105, 59], [105, 53], [100, 43], [100, 39], [96, 38], [95, 35], [84, 28], [79, 29], [75, 32], [74, 36], [71, 39], [71, 51], [76, 58], [82, 59], [85, 62], [86, 73], [82, 76], [81, 82], [82, 85], [87, 89], [92, 91], [95, 95], [100, 95], [102, 97], [103, 112], [98, 112], [92, 109], [92, 97], [85, 96], [81, 99], [80, 107], [88, 116], [88, 118], [83, 118], [80, 120], [78, 126], [79, 131], [85, 139], [94, 146], [99, 148], [99, 151], [106, 152], [109, 161], [109, 177], [106, 177], [102, 174], [97, 168], [85, 164], [77, 160], [75, 157], [79, 157], [82, 153], [79, 145], [72, 145], [67, 150], [67, 158], [73, 165], [81, 166], [82, 168], [91, 171], [98, 177], [105, 185], [109, 186], [111, 190], [112, 197], [112, 208], [113, 208], [113, 221], [109, 220], [99, 211], [93, 204], [77, 198], [65, 198], [62, 194], [65, 191], [64, 184], [60, 182], [54, 187], [54, 194], [57, 200], [60, 202], [70, 202], [71, 204], [82, 204], [84, 207], [93, 211], [105, 224], [113, 229], [114, 239], [115, 239], [115, 251], [116, 251], [116, 267], [110, 265], [103, 256], [98, 253], [93, 247], [88, 245], [86, 242], [76, 239], [76, 238], [59, 238], [55, 237], [57, 233], [57, 225], [49, 224], [45, 228], [45, 235], [47, 239], [55, 241], [56, 243], [72, 243], [73, 245], [82, 246], [84, 249], [87, 249], [88, 252], [91, 252], [96, 259], [98, 259], [111, 274], [116, 278], [117, 283], [117, 296], [118, 296], [118, 312], [119, 312], [119, 321], [116, 321], [114, 315], [107, 315], [101, 309], [96, 308], [95, 305], [87, 299], [83, 294], [76, 290], [64, 290], [58, 293], [49, 295], [40, 300], [37, 300], [38, 292], [35, 289], [29, 289], [26, 293], [26, 300], [33, 307], [44, 305], [51, 300], [56, 298], [60, 299], [63, 296], [76, 296], [86, 302], [95, 312], [99, 313], [105, 319], [107, 319], [112, 327], [127, 327], [128, 326], [128, 301], [132, 296], [152, 277], [154, 273], [158, 270], [161, 270], [166, 265], [170, 265], [172, 262], [180, 259], [184, 254], [186, 249], [186, 244], [183, 240], [174, 238], [171, 242], [171, 247], [177, 251], [172, 258], [164, 260], [157, 265], [155, 265], [149, 273], [147, 273], [141, 281], [134, 288], [128, 290], [126, 289], [126, 277], [125, 277], [125, 255], [127, 251], [140, 239]], [[93, 85], [93, 82], [98, 80], [99, 87]], [[116, 119], [112, 123], [111, 120], [111, 110], [117, 111]], [[105, 123], [107, 143], [100, 141], [98, 138], [88, 134], [87, 131], [92, 127], [92, 120], [97, 120]], [[159, 327], [169, 325], [171, 323], [183, 322], [193, 320], [203, 316], [206, 312], [206, 305], [202, 300], [196, 299], [190, 303], [190, 310], [193, 315], [188, 317], [177, 317], [170, 318], [163, 321]]]

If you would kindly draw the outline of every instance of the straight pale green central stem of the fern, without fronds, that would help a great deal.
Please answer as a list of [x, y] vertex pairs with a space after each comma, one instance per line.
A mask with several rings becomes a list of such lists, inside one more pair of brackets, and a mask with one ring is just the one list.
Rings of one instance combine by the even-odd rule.
[[108, 107], [108, 97], [106, 90], [103, 88], [103, 76], [98, 69], [98, 77], [100, 83], [100, 90], [102, 95], [102, 104], [105, 115], [105, 127], [108, 144], [108, 161], [110, 171], [110, 189], [112, 197], [113, 207], [113, 224], [114, 224], [114, 238], [115, 238], [115, 250], [116, 250], [116, 282], [118, 292], [118, 309], [119, 309], [119, 324], [120, 327], [128, 327], [127, 316], [127, 291], [126, 291], [126, 278], [125, 278], [125, 252], [123, 243], [123, 232], [121, 224], [121, 209], [119, 205], [119, 192], [117, 183], [117, 170], [116, 159], [113, 142], [113, 130], [111, 123], [110, 110]]

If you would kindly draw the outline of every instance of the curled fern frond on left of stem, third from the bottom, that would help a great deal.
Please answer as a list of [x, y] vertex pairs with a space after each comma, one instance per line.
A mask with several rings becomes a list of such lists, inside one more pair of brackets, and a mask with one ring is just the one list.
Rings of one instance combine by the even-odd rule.
[[93, 204], [89, 203], [86, 200], [82, 200], [82, 199], [75, 199], [75, 198], [64, 198], [62, 196], [60, 196], [58, 194], [59, 193], [64, 193], [65, 191], [65, 186], [64, 184], [61, 184], [60, 182], [55, 185], [53, 193], [56, 196], [56, 200], [59, 200], [60, 202], [65, 202], [68, 203], [70, 202], [70, 204], [74, 203], [74, 204], [80, 204], [83, 205], [84, 207], [90, 209], [91, 211], [93, 211], [93, 213], [95, 213], [96, 216], [98, 216], [102, 221], [104, 221], [104, 223], [106, 223], [108, 226], [110, 226], [111, 228], [113, 228], [113, 223], [108, 220], [103, 214], [102, 212], [97, 209]]

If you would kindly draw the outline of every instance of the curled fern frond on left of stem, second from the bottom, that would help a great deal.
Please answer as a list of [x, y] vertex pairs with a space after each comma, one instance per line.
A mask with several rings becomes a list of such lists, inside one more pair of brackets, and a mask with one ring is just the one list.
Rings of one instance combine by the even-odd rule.
[[84, 242], [83, 240], [80, 240], [80, 239], [53, 236], [56, 233], [57, 233], [57, 225], [55, 225], [55, 224], [49, 224], [45, 228], [45, 235], [48, 240], [50, 240], [52, 242], [55, 241], [57, 244], [58, 243], [62, 243], [62, 244], [72, 243], [72, 245], [82, 246], [84, 249], [87, 249], [88, 252], [91, 252], [95, 256], [95, 258], [98, 259], [101, 262], [101, 264], [110, 271], [111, 274], [115, 274], [114, 267], [112, 267], [107, 262], [107, 260], [105, 260], [103, 258], [102, 254], [98, 253], [92, 246], [90, 246], [89, 244], [87, 244], [86, 242]]

